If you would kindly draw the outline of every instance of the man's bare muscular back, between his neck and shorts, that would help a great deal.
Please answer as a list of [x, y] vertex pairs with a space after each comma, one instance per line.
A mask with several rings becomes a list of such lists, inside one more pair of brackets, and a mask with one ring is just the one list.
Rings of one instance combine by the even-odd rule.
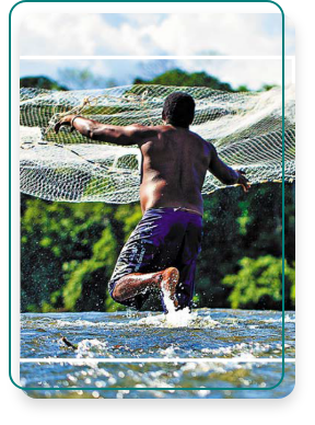
[[149, 208], [186, 208], [202, 216], [201, 188], [211, 147], [198, 135], [173, 126], [155, 127], [156, 135], [140, 147], [143, 179], [142, 211]]

